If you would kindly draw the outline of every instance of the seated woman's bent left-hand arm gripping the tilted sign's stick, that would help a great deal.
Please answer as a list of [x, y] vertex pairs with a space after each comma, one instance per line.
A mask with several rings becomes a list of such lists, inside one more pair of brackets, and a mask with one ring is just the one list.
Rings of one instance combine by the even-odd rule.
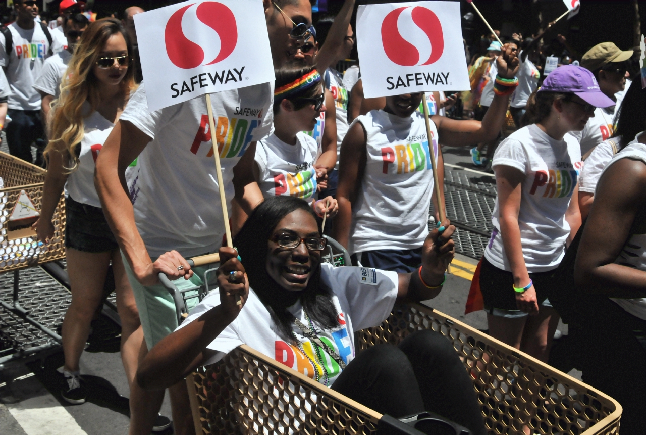
[[[185, 378], [214, 354], [206, 346], [233, 322], [249, 294], [249, 281], [244, 266], [236, 259], [233, 248], [220, 248], [217, 271], [220, 305], [203, 313], [198, 319], [164, 337], [148, 352], [137, 370], [137, 383], [147, 390], [163, 390]], [[229, 281], [229, 272], [235, 279]], [[233, 282], [232, 282], [233, 281]], [[240, 295], [242, 305], [236, 304]]]

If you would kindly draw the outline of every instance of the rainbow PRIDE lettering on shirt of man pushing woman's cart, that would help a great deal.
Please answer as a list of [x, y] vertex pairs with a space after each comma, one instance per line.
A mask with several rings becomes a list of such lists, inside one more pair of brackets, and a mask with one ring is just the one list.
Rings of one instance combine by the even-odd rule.
[[[218, 116], [215, 122], [215, 142], [218, 144], [218, 152], [221, 158], [240, 157], [253, 140], [253, 131], [262, 121], [262, 110], [257, 120], [245, 118], [227, 118]], [[200, 120], [200, 127], [191, 145], [191, 153], [197, 154], [203, 142], [211, 142], [211, 131], [209, 131], [209, 115], [203, 114]], [[213, 157], [213, 144], [207, 157]]]

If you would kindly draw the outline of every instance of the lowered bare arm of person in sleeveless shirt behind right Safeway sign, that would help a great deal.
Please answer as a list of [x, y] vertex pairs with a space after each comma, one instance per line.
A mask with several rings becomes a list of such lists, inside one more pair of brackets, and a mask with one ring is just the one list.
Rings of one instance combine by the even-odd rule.
[[339, 186], [337, 201], [339, 213], [334, 224], [334, 239], [348, 248], [350, 224], [352, 223], [352, 204], [357, 200], [366, 169], [366, 132], [361, 123], [350, 127], [341, 143], [339, 156]]

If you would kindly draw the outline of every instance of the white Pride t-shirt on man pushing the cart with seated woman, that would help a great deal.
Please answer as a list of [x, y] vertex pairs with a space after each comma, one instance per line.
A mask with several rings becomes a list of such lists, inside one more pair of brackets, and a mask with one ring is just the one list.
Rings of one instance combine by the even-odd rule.
[[[271, 133], [273, 82], [211, 95], [225, 195], [233, 199], [233, 167], [249, 143]], [[149, 112], [139, 89], [121, 115], [152, 140], [138, 158], [134, 217], [152, 257], [176, 249], [184, 257], [222, 245], [224, 218], [205, 98]]]

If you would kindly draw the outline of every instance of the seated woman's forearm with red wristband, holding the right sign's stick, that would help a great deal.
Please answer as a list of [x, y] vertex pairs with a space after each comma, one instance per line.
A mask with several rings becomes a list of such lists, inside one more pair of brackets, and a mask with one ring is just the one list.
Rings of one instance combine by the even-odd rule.
[[422, 246], [422, 279], [434, 288], [425, 286], [417, 271], [399, 273], [397, 302], [428, 301], [442, 291], [444, 273], [455, 255], [455, 242], [451, 239], [455, 227], [450, 225], [448, 219], [444, 219], [442, 224], [446, 228], [444, 232], [440, 233], [437, 228], [433, 228]]

